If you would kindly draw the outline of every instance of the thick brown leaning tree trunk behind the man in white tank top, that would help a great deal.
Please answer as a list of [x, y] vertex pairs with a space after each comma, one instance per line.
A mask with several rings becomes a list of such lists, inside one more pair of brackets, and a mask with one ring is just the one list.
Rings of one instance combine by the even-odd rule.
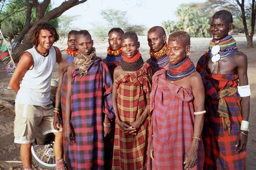
[[[30, 41], [30, 35], [32, 33], [32, 30], [38, 23], [49, 22], [51, 19], [59, 17], [63, 12], [67, 11], [69, 8], [84, 3], [87, 0], [66, 0], [62, 2], [60, 6], [54, 8], [45, 15], [45, 10], [49, 5], [49, 1], [50, 0], [44, 0], [42, 3], [39, 3], [38, 0], [33, 0], [33, 5], [36, 7], [37, 16], [30, 30], [28, 30], [27, 33], [26, 31], [23, 32], [23, 34], [26, 35], [23, 38], [22, 44], [16, 47], [15, 51], [12, 53], [14, 62], [19, 61], [20, 55], [22, 55], [25, 50], [33, 47]], [[22, 37], [22, 35], [19, 36]]]

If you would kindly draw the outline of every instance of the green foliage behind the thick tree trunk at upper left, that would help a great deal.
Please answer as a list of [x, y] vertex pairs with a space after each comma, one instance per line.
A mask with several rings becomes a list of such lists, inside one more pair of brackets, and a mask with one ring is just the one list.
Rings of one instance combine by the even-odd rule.
[[[51, 4], [46, 9], [46, 13], [51, 10]], [[3, 6], [0, 14], [1, 31], [4, 37], [11, 43], [22, 31], [26, 22], [27, 6], [25, 0], [14, 0]], [[36, 16], [35, 8], [32, 8], [31, 23]], [[58, 28], [58, 18], [50, 21], [53, 26]]]

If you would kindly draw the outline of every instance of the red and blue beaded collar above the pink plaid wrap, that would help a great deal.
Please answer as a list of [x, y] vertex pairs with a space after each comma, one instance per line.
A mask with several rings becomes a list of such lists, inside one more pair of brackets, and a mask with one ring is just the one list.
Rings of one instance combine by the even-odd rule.
[[187, 77], [195, 71], [195, 65], [191, 62], [190, 58], [186, 56], [183, 60], [176, 64], [169, 64], [169, 70], [167, 71], [166, 78], [169, 81], [175, 81]]

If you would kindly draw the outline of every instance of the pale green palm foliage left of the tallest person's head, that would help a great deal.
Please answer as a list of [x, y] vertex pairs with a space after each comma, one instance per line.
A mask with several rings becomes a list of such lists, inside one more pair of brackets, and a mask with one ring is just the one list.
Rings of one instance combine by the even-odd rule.
[[162, 22], [168, 34], [182, 30], [189, 33], [191, 37], [210, 37], [210, 16], [205, 15], [202, 10], [195, 4], [182, 4], [176, 10], [175, 14], [179, 17], [178, 22], [164, 21]]

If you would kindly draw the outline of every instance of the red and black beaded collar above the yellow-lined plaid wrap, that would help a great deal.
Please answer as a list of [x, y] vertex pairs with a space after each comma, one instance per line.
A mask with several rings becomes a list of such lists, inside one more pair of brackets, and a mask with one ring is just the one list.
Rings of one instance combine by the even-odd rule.
[[141, 54], [138, 50], [137, 54], [132, 58], [126, 57], [122, 54], [121, 67], [124, 71], [136, 71], [139, 70], [144, 64]]

